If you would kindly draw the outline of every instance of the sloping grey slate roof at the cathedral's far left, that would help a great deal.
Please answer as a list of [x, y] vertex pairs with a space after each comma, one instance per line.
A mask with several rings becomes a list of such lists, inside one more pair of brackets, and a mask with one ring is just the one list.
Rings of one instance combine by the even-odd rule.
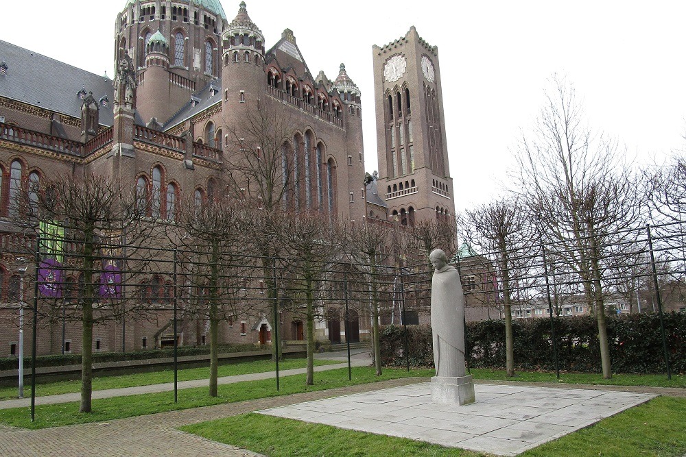
[[[45, 55], [0, 40], [2, 58], [7, 65], [0, 75], [0, 97], [21, 101], [46, 110], [81, 118], [82, 99], [78, 92], [85, 88], [95, 99], [113, 98], [112, 79], [95, 75]], [[100, 106], [100, 124], [113, 125], [112, 106]]]

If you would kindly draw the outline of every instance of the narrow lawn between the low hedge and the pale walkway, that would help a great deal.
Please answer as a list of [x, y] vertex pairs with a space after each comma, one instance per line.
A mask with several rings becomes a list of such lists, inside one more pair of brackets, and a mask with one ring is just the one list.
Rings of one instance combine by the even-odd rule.
[[[304, 358], [287, 358], [279, 362], [279, 371], [292, 368], [305, 367]], [[340, 363], [335, 360], [314, 360], [314, 365], [329, 365]], [[248, 373], [263, 373], [265, 371], [274, 371], [276, 369], [274, 362], [271, 360], [255, 360], [252, 362], [235, 362], [227, 365], [220, 365], [219, 376], [233, 376], [244, 375]], [[209, 367], [189, 368], [178, 371], [179, 381], [202, 380], [209, 379]], [[147, 373], [134, 373], [131, 375], [122, 376], [102, 376], [93, 378], [93, 390], [102, 391], [107, 388], [122, 388], [134, 386], [148, 386], [150, 384], [164, 384], [166, 382], [174, 382], [174, 371], [152, 371]], [[38, 384], [36, 386], [36, 396], [43, 395], [60, 395], [62, 393], [75, 393], [81, 390], [81, 380], [50, 382], [45, 384]], [[24, 396], [31, 395], [31, 386], [25, 386]], [[16, 387], [1, 387], [0, 400], [12, 399], [17, 396]]]

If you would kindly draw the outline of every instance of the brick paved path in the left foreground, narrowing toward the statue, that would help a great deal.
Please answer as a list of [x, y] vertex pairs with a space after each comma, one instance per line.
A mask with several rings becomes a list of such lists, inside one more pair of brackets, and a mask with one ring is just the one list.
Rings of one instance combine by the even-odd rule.
[[265, 408], [286, 406], [315, 399], [375, 391], [380, 388], [426, 382], [425, 378], [403, 378], [328, 391], [296, 393], [248, 402], [206, 406], [156, 415], [117, 419], [43, 430], [25, 430], [0, 425], [2, 457], [247, 457], [246, 449], [215, 443], [176, 430], [181, 425], [230, 417]]

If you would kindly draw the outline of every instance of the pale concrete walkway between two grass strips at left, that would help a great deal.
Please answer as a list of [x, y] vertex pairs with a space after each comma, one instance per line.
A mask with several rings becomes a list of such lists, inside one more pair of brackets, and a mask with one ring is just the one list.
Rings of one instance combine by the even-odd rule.
[[[328, 371], [335, 370], [338, 368], [348, 367], [348, 354], [346, 351], [342, 352], [322, 352], [315, 354], [315, 358], [322, 360], [345, 360], [345, 362], [337, 363], [333, 365], [320, 365], [314, 367], [314, 371]], [[352, 367], [366, 367], [370, 365], [371, 358], [368, 349], [357, 349], [351, 351], [351, 366]], [[289, 370], [279, 370], [279, 378], [283, 376], [299, 375], [304, 374], [305, 368], [295, 368]], [[235, 376], [224, 376], [217, 379], [218, 384], [233, 384], [235, 382], [243, 381], [257, 381], [257, 380], [268, 380], [276, 379], [276, 371], [265, 371], [263, 373], [249, 373], [246, 375], [235, 375]], [[193, 388], [193, 387], [204, 387], [208, 385], [208, 380], [191, 380], [191, 381], [180, 381], [178, 382], [178, 389]], [[38, 389], [40, 390], [40, 384], [38, 384]], [[93, 399], [102, 399], [110, 397], [126, 397], [128, 395], [142, 395], [145, 393], [158, 393], [158, 392], [169, 392], [174, 391], [174, 382], [167, 382], [165, 384], [150, 384], [149, 386], [136, 386], [136, 387], [123, 387], [123, 388], [108, 388], [102, 391], [93, 391]], [[30, 395], [30, 390], [28, 391]], [[81, 399], [81, 394], [76, 393], [64, 393], [62, 395], [47, 395], [43, 397], [36, 397], [36, 405], [49, 405], [67, 402], [79, 402]], [[9, 408], [22, 408], [31, 406], [31, 398], [18, 398], [10, 400], [0, 401], [0, 410]], [[1, 455], [1, 454], [0, 454]]]

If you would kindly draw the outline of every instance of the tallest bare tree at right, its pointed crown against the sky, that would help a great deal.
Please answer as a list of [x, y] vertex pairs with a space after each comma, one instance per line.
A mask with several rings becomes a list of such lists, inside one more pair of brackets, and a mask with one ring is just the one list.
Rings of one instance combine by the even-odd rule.
[[517, 158], [521, 195], [545, 239], [580, 277], [598, 319], [603, 377], [611, 378], [602, 280], [608, 247], [640, 220], [637, 180], [614, 141], [583, 123], [571, 84], [556, 75], [534, 129], [523, 135]]

